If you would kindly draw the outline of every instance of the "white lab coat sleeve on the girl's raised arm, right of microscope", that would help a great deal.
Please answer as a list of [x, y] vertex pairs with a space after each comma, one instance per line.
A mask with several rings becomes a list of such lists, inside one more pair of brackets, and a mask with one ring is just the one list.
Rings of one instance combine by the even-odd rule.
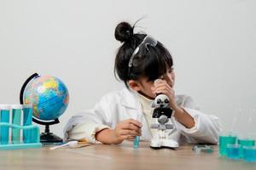
[[218, 132], [220, 130], [218, 117], [204, 114], [196, 110], [197, 108], [190, 97], [186, 99], [183, 109], [194, 118], [195, 127], [186, 128], [181, 123], [176, 122], [178, 129], [190, 141], [218, 144]]

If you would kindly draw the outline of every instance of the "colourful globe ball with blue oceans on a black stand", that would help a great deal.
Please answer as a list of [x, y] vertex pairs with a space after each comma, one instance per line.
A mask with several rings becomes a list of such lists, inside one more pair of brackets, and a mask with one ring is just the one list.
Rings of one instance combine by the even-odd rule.
[[55, 120], [67, 109], [67, 87], [57, 77], [42, 76], [32, 79], [23, 94], [25, 104], [32, 103], [33, 116], [43, 121]]

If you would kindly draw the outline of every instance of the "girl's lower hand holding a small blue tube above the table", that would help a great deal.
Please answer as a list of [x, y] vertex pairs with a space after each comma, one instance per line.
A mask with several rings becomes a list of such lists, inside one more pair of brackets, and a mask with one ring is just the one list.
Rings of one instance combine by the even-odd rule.
[[113, 129], [113, 144], [120, 144], [125, 139], [132, 140], [142, 135], [142, 123], [134, 119], [127, 119]]

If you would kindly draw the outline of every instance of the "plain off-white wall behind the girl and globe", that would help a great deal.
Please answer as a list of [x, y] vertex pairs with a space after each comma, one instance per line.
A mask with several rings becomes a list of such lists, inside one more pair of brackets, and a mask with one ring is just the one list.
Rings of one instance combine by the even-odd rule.
[[50, 129], [62, 137], [69, 117], [123, 88], [113, 77], [120, 46], [113, 31], [145, 17], [139, 31], [173, 55], [177, 94], [191, 95], [229, 128], [237, 109], [247, 117], [255, 108], [255, 8], [253, 0], [1, 0], [0, 103], [19, 103], [34, 72], [61, 78], [70, 104]]

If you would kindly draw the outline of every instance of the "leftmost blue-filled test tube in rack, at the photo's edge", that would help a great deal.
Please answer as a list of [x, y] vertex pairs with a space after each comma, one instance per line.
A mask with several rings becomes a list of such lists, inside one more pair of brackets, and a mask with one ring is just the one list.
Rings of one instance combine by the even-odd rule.
[[[9, 105], [0, 105], [1, 122], [9, 123]], [[0, 127], [0, 143], [9, 144], [9, 127]]]

